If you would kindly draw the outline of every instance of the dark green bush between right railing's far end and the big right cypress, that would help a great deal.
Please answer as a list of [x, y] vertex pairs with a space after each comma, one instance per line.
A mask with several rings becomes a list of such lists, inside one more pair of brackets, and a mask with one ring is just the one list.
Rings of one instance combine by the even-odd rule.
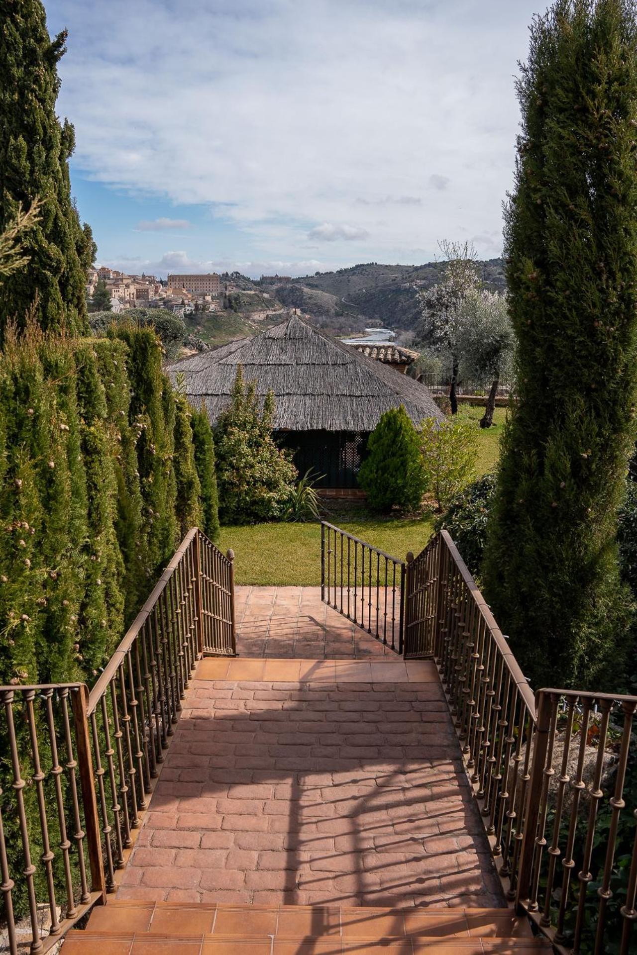
[[479, 575], [495, 488], [494, 474], [478, 477], [451, 501], [447, 512], [435, 521], [436, 531], [443, 528], [449, 531], [462, 560], [474, 577]]

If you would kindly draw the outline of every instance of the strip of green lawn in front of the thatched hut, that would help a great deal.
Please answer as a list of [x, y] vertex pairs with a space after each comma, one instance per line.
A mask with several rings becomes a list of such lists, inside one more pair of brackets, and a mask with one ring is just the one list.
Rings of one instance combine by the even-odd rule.
[[[431, 517], [377, 520], [332, 517], [343, 530], [404, 560], [418, 554], [432, 536]], [[310, 524], [254, 524], [223, 527], [220, 547], [235, 552], [237, 584], [318, 586], [321, 583], [321, 527]]]

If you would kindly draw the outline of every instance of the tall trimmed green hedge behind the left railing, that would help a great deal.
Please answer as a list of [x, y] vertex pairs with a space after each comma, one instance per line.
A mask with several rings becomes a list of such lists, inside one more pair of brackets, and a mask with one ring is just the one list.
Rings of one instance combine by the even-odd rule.
[[107, 339], [9, 329], [0, 683], [95, 679], [180, 536], [218, 526], [209, 473], [201, 490], [202, 445], [214, 462], [207, 418], [173, 391], [152, 329], [124, 324]]

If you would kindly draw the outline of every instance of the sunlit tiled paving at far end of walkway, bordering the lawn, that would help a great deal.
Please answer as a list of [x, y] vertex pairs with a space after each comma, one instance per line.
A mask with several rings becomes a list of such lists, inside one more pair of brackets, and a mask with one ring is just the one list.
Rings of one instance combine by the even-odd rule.
[[[345, 600], [347, 602], [347, 595]], [[391, 602], [390, 597], [389, 618]], [[383, 646], [364, 629], [323, 604], [320, 587], [238, 586], [235, 588], [235, 610], [237, 651], [242, 656], [305, 660], [395, 659], [389, 646], [389, 622], [388, 646]], [[394, 607], [394, 616], [397, 621], [398, 605]], [[397, 639], [396, 626], [396, 646]]]

